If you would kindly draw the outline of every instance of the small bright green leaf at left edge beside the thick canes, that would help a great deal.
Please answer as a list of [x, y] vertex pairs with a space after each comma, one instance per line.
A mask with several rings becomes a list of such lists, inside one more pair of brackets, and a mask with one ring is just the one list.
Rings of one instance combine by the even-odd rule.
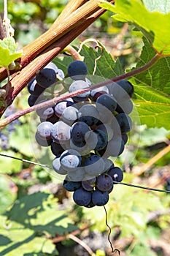
[[0, 67], [8, 67], [12, 61], [22, 56], [21, 52], [16, 51], [17, 47], [13, 37], [5, 37], [0, 40]]

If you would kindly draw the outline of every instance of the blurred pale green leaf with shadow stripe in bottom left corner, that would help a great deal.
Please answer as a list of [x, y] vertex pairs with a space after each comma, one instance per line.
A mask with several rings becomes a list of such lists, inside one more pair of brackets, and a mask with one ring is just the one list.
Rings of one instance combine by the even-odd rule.
[[[6, 227], [5, 222], [3, 224]], [[0, 241], [0, 255], [58, 255], [53, 241], [36, 235], [33, 230], [28, 228], [14, 228], [14, 224], [15, 222], [10, 222], [9, 227], [0, 228], [3, 238]], [[9, 241], [8, 244], [7, 241]]]

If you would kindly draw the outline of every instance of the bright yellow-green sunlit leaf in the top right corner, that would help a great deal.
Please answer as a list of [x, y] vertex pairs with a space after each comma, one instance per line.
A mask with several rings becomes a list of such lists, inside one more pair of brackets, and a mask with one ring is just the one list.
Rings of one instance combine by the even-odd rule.
[[101, 0], [100, 6], [115, 13], [114, 18], [133, 23], [142, 31], [150, 44], [159, 53], [170, 54], [170, 10], [166, 0], [159, 1], [148, 10], [139, 0], [117, 0], [115, 5]]

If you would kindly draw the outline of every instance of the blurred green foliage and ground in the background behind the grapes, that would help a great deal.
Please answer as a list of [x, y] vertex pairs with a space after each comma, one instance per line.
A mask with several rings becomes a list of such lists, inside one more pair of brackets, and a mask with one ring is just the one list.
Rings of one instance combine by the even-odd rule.
[[[9, 18], [22, 48], [45, 32], [66, 5], [66, 0], [9, 0]], [[3, 1], [0, 2], [3, 12]], [[102, 42], [123, 69], [135, 67], [142, 50], [142, 36], [131, 25], [105, 12], [72, 42], [77, 47], [90, 37]], [[24, 89], [4, 116], [28, 108]], [[0, 132], [1, 154], [37, 161], [31, 141], [31, 115], [12, 122]], [[157, 159], [147, 171], [134, 176], [133, 168], [147, 163], [169, 144], [170, 132], [134, 126], [125, 152], [116, 159], [127, 183], [170, 189], [170, 153]], [[61, 178], [47, 168], [0, 157], [0, 255], [89, 255], [68, 233], [75, 230], [96, 256], [112, 255], [107, 241], [104, 208], [75, 206]], [[170, 197], [158, 192], [115, 185], [107, 204], [112, 242], [121, 255], [170, 254]]]

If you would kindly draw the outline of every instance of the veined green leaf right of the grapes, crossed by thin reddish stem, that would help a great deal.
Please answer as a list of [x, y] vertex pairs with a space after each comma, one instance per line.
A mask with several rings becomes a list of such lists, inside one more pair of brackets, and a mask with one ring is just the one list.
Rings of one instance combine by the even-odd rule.
[[[144, 47], [136, 68], [147, 64], [155, 55], [155, 50], [144, 39]], [[147, 127], [170, 129], [170, 57], [164, 57], [130, 79], [134, 85], [134, 105], [139, 113], [141, 124]], [[136, 69], [135, 68], [135, 69]], [[134, 113], [135, 119], [135, 113]]]

